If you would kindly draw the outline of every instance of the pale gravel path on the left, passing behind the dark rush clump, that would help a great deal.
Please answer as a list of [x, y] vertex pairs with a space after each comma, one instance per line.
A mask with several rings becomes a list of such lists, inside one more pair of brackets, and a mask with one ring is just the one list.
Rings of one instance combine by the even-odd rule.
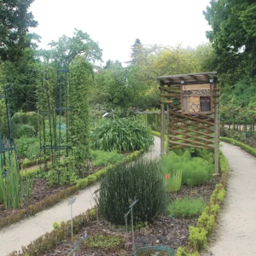
[[[143, 157], [151, 159], [159, 156], [160, 138], [154, 137], [154, 146], [152, 146]], [[97, 185], [93, 185], [79, 191], [79, 194], [75, 195], [76, 201], [73, 204], [73, 216], [85, 212], [94, 205], [91, 193], [93, 193], [96, 188]], [[0, 255], [4, 256], [15, 250], [18, 251], [22, 246], [27, 246], [39, 236], [53, 230], [52, 224], [55, 221], [60, 223], [62, 220], [70, 219], [70, 207], [67, 206], [67, 202], [70, 198], [61, 201], [54, 207], [38, 212], [33, 217], [23, 219], [17, 224], [12, 224], [0, 230]]]

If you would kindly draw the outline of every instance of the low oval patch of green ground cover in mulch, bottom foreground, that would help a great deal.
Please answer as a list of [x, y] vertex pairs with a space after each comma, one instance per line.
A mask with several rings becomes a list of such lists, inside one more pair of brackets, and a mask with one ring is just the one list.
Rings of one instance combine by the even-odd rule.
[[89, 236], [84, 241], [84, 243], [88, 247], [109, 249], [109, 248], [120, 247], [121, 245], [125, 244], [125, 239], [122, 236], [92, 235], [92, 236]]

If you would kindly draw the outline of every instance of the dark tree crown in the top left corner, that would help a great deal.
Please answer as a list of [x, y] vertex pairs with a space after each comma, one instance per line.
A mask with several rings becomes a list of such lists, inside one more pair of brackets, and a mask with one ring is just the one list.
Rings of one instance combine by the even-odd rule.
[[19, 61], [23, 49], [31, 44], [27, 37], [29, 27], [38, 22], [28, 12], [34, 0], [0, 1], [0, 59], [2, 61]]

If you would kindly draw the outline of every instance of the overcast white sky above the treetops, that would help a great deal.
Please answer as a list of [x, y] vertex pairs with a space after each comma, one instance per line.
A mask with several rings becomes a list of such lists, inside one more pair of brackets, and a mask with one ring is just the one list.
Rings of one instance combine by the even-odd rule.
[[74, 28], [90, 34], [103, 49], [103, 61], [129, 61], [136, 38], [142, 44], [195, 47], [210, 29], [202, 11], [210, 0], [35, 0], [31, 11], [42, 37], [40, 47]]

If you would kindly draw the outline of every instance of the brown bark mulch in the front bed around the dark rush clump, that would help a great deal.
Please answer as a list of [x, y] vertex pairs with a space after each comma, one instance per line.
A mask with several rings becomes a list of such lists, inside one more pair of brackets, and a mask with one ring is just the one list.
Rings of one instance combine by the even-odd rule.
[[[219, 180], [220, 177], [213, 177], [211, 182], [192, 189], [187, 186], [183, 186], [182, 189], [177, 193], [169, 193], [170, 199], [175, 200], [176, 198], [189, 197], [203, 198], [204, 200], [209, 201], [210, 196], [212, 195], [212, 191]], [[135, 231], [136, 247], [166, 246], [177, 250], [177, 247], [184, 246], [187, 243], [189, 237], [189, 225], [195, 225], [196, 221], [196, 218], [171, 218], [169, 216], [159, 216], [154, 218], [154, 220], [149, 223], [148, 226]], [[75, 236], [73, 241], [78, 241], [84, 236], [91, 236], [96, 234], [123, 236], [125, 237], [126, 243], [121, 248], [103, 250], [100, 248], [86, 247], [84, 246], [84, 241], [81, 241], [81, 243], [79, 243], [79, 249], [73, 253], [73, 256], [131, 255], [131, 231], [126, 234], [124, 229], [114, 227], [102, 218], [100, 218], [98, 222], [90, 222], [90, 224], [79, 231], [79, 234]], [[45, 253], [44, 256], [68, 255], [72, 249], [73, 242], [63, 241], [54, 249]]]

